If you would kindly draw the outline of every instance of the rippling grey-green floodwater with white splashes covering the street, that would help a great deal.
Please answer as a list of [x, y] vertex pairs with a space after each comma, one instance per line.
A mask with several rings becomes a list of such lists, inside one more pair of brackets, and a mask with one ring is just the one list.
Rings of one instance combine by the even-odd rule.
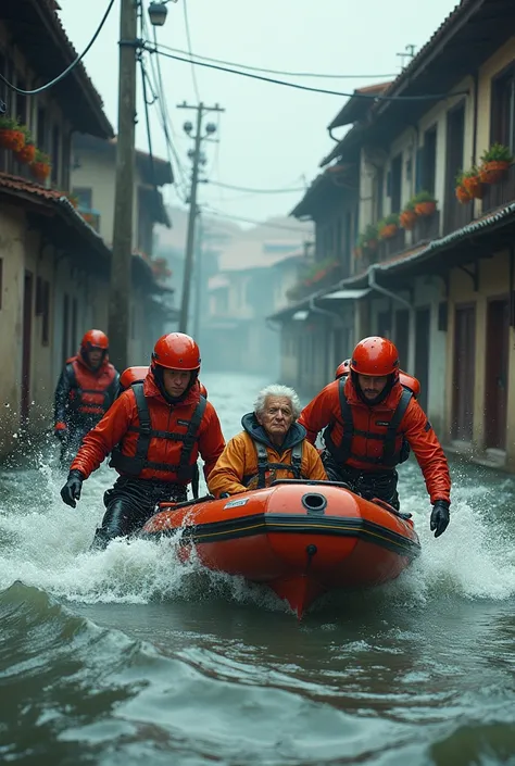
[[[226, 439], [267, 382], [202, 380]], [[169, 540], [88, 553], [114, 472], [72, 510], [54, 465], [0, 472], [1, 763], [515, 764], [510, 476], [452, 462], [435, 540], [401, 466], [422, 556], [298, 624], [264, 587], [178, 565]]]

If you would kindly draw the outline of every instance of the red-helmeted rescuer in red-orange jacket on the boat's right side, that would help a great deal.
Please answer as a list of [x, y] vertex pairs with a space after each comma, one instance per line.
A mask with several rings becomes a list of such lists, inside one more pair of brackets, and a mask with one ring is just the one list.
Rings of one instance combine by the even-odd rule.
[[395, 465], [405, 439], [424, 474], [432, 504], [430, 528], [439, 537], [449, 524], [449, 465], [413, 391], [399, 380], [397, 348], [386, 338], [365, 338], [353, 351], [350, 371], [304, 407], [299, 423], [312, 443], [325, 428], [322, 460], [330, 479], [398, 510]]

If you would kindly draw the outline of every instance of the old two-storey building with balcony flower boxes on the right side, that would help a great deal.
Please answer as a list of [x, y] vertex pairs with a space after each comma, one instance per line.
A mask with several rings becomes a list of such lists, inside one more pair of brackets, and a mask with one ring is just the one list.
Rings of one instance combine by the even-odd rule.
[[[347, 292], [353, 341], [397, 342], [447, 445], [511, 469], [514, 73], [513, 3], [464, 0], [323, 160], [326, 173], [359, 166], [360, 236], [351, 275], [297, 306], [312, 324], [334, 310], [330, 293]], [[282, 315], [285, 334], [293, 316]]]

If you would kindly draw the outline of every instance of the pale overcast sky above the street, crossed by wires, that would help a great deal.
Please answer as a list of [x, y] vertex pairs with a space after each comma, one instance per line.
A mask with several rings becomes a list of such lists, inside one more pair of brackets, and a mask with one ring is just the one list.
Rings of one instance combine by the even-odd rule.
[[[181, 50], [188, 48], [185, 2], [194, 53], [271, 70], [365, 75], [341, 79], [284, 77], [338, 92], [351, 92], [398, 74], [401, 59], [397, 53], [405, 51], [407, 45], [416, 50], [424, 46], [455, 5], [454, 0], [178, 0], [166, 5], [168, 17], [158, 36], [163, 45]], [[81, 52], [108, 0], [60, 0], [60, 4], [67, 35]], [[143, 0], [143, 7], [148, 5], [149, 0]], [[120, 0], [85, 59], [115, 127], [118, 16]], [[192, 141], [185, 137], [181, 126], [185, 120], [194, 121], [194, 112], [176, 105], [185, 100], [197, 103], [192, 67], [161, 58], [161, 68], [177, 152], [189, 175], [187, 151]], [[334, 146], [326, 126], [341, 109], [343, 96], [301, 91], [201, 66], [194, 71], [202, 101], [208, 105], [217, 102], [225, 109], [219, 118], [213, 118], [219, 125], [219, 143], [205, 146], [209, 178], [252, 189], [299, 189], [313, 180], [319, 161]], [[138, 88], [141, 90], [139, 77]], [[166, 158], [156, 105], [151, 106], [151, 124], [153, 152]], [[337, 135], [343, 135], [343, 130]], [[148, 150], [141, 109], [137, 147]], [[175, 164], [174, 173], [179, 179]], [[301, 197], [302, 191], [250, 194], [210, 184], [200, 187], [201, 203], [260, 221], [289, 213]], [[180, 204], [175, 189], [168, 189], [165, 199]]]

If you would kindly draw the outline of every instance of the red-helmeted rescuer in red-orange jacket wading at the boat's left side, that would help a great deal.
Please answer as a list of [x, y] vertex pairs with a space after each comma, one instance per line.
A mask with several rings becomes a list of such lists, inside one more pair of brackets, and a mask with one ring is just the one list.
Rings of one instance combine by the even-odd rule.
[[145, 381], [136, 381], [84, 439], [61, 497], [71, 507], [83, 481], [112, 451], [120, 474], [104, 493], [106, 507], [93, 548], [140, 529], [159, 502], [187, 499], [200, 452], [208, 478], [224, 450], [215, 409], [200, 393], [200, 351], [192, 338], [171, 332], [155, 343]]

